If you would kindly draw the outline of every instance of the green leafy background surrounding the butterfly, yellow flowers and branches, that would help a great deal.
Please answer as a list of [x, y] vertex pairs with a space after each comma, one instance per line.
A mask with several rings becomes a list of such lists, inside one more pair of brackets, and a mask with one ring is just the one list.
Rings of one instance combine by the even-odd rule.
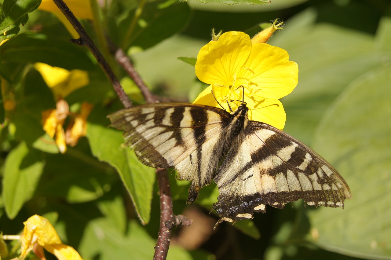
[[[181, 228], [174, 231], [169, 259], [391, 259], [389, 1], [203, 2], [149, 1], [129, 34], [137, 2], [113, 0], [101, 9], [101, 29], [124, 47], [155, 94], [192, 101], [204, 84], [187, 63], [194, 63], [212, 28], [253, 36], [259, 24], [283, 20], [285, 29], [269, 44], [299, 65], [299, 84], [282, 99], [284, 131], [330, 161], [353, 199], [344, 210], [305, 208], [302, 201], [284, 210], [268, 207], [252, 221], [220, 224], [192, 249], [179, 246], [188, 229]], [[249, 3], [224, 3], [234, 2]], [[19, 33], [0, 46], [0, 231], [18, 234], [23, 221], [39, 214], [83, 259], [151, 259], [160, 215], [154, 169], [122, 147], [122, 133], [108, 128], [106, 115], [121, 108], [109, 81], [85, 48], [69, 43], [55, 16], [33, 11], [39, 3], [0, 0], [0, 40]], [[83, 23], [105, 46], [91, 22]], [[36, 62], [90, 75], [90, 84], [66, 97], [71, 111], [84, 101], [94, 104], [86, 138], [66, 154], [42, 129], [41, 112], [56, 101]], [[131, 99], [143, 102], [120, 66], [111, 65]], [[181, 214], [191, 208], [184, 206], [188, 183], [174, 173], [170, 178], [174, 213]], [[202, 219], [217, 195], [213, 184], [201, 190], [195, 207]], [[215, 213], [210, 217], [217, 221]], [[6, 242], [9, 249], [15, 244]]]

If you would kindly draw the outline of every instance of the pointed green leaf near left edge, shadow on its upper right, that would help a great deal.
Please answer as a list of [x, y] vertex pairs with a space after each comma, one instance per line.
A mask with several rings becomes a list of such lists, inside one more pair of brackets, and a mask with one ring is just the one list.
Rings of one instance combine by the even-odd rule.
[[13, 219], [35, 192], [44, 166], [41, 152], [22, 142], [7, 156], [4, 166], [3, 197], [5, 212]]

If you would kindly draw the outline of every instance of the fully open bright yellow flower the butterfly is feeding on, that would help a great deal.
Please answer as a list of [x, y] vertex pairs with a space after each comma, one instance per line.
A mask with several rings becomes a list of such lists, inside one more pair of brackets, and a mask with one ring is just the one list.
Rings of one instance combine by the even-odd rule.
[[[226, 32], [210, 41], [198, 53], [195, 64], [198, 79], [210, 84], [194, 103], [235, 110], [243, 99], [250, 120], [279, 129], [285, 125], [285, 111], [278, 100], [288, 95], [298, 82], [298, 65], [289, 61], [282, 48], [266, 43], [251, 43], [244, 32]], [[242, 88], [243, 86], [243, 88]]]

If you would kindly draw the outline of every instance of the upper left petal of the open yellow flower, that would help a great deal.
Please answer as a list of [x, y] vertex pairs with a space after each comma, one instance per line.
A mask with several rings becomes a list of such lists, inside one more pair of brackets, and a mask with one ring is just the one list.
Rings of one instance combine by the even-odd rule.
[[[235, 83], [251, 51], [251, 39], [244, 32], [226, 32], [217, 41], [201, 48], [195, 64], [195, 75], [207, 83], [227, 87]], [[239, 85], [238, 85], [239, 86]]]

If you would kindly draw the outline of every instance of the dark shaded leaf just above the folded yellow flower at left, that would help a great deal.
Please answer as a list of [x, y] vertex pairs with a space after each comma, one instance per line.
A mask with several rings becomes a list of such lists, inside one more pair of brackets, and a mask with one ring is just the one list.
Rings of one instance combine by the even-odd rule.
[[0, 46], [0, 61], [46, 63], [67, 70], [92, 70], [93, 63], [82, 47], [45, 34], [20, 34]]

